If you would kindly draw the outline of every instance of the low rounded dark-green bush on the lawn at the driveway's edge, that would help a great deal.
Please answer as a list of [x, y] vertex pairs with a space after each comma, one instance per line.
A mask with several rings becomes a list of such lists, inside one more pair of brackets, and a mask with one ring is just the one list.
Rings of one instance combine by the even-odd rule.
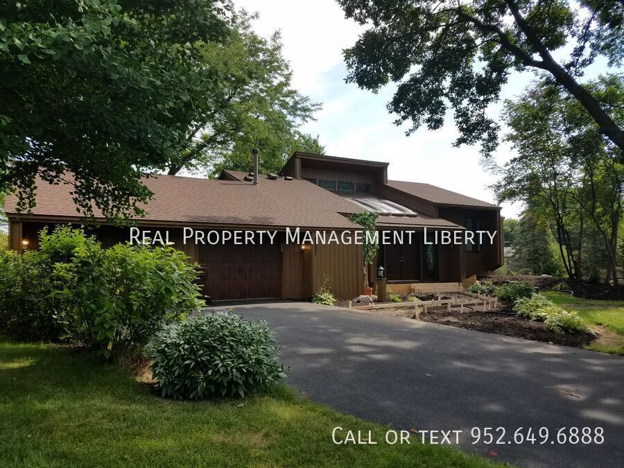
[[163, 397], [245, 397], [284, 376], [279, 347], [267, 322], [248, 322], [232, 311], [165, 327], [146, 355]]

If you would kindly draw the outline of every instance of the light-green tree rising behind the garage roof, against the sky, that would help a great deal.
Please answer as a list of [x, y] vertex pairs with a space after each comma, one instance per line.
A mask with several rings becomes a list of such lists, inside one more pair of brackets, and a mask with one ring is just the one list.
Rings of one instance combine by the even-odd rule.
[[318, 139], [299, 130], [320, 105], [293, 89], [279, 33], [268, 40], [257, 35], [254, 19], [238, 12], [227, 41], [202, 45], [202, 60], [217, 71], [219, 86], [196, 115], [188, 146], [168, 173], [184, 166], [211, 175], [224, 167], [248, 171], [252, 148], [261, 149], [260, 170], [277, 173], [294, 150], [322, 153]]

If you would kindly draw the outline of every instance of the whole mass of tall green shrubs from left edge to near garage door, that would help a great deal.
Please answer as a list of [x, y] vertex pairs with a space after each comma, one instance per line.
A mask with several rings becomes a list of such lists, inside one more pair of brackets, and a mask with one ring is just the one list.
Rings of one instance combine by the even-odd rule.
[[0, 261], [8, 331], [61, 338], [104, 356], [134, 353], [162, 324], [200, 308], [196, 270], [183, 252], [146, 245], [104, 250], [82, 229], [40, 233], [40, 250]]

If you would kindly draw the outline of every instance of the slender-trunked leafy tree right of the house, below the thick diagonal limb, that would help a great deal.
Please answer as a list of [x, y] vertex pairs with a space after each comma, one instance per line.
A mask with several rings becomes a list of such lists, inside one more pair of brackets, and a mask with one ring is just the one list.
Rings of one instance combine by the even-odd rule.
[[[624, 79], [613, 75], [587, 89], [624, 123]], [[607, 252], [605, 281], [617, 284], [617, 247], [624, 202], [624, 165], [619, 148], [605, 142], [598, 125], [575, 98], [538, 83], [518, 101], [507, 101], [503, 117], [518, 155], [505, 164], [494, 186], [499, 200], [521, 200], [549, 210], [564, 266], [580, 277], [584, 225], [597, 232]], [[576, 234], [575, 234], [576, 233]]]

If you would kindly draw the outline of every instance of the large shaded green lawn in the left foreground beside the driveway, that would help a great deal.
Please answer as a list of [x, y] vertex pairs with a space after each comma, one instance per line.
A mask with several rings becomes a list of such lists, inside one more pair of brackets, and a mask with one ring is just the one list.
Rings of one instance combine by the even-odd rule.
[[[390, 445], [388, 428], [284, 385], [216, 402], [161, 399], [113, 365], [53, 345], [0, 340], [0, 466], [427, 466], [489, 462], [439, 445]], [[377, 445], [336, 445], [335, 426]]]

